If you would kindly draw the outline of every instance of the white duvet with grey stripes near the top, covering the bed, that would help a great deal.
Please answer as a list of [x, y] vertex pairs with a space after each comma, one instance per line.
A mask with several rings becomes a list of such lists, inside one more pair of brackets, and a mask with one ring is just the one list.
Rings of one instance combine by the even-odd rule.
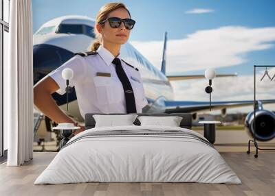
[[[169, 134], [91, 136], [115, 130]], [[181, 133], [180, 132], [180, 133]], [[173, 133], [173, 132], [171, 132]], [[94, 127], [74, 136], [34, 184], [77, 182], [202, 182], [241, 184], [219, 152], [201, 134], [181, 127]]]

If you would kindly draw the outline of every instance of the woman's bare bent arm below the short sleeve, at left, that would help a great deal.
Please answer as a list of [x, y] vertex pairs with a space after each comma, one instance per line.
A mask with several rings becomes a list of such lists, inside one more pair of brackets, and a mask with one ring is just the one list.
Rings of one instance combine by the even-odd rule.
[[34, 105], [56, 123], [74, 123], [52, 98], [52, 93], [58, 89], [59, 86], [52, 77], [44, 77], [34, 86]]

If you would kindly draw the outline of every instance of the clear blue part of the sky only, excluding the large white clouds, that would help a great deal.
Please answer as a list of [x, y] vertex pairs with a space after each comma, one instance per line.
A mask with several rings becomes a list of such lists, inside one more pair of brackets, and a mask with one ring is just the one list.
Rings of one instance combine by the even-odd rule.
[[[96, 14], [104, 3], [110, 1], [91, 0], [33, 0], [34, 31], [43, 23], [58, 16], [80, 14], [96, 18]], [[130, 40], [151, 41], [162, 40], [164, 32], [168, 39], [185, 38], [201, 29], [215, 29], [221, 26], [274, 27], [275, 1], [243, 0], [243, 1], [121, 1], [129, 8], [132, 18], [137, 21], [131, 32]], [[186, 14], [195, 8], [213, 10], [206, 14]], [[221, 73], [251, 74], [252, 64], [274, 64], [275, 48], [267, 51], [256, 51], [245, 54], [248, 62], [237, 66], [217, 69]], [[168, 70], [169, 72], [169, 70]], [[173, 71], [170, 71], [173, 73]], [[185, 73], [201, 73], [201, 70]]]

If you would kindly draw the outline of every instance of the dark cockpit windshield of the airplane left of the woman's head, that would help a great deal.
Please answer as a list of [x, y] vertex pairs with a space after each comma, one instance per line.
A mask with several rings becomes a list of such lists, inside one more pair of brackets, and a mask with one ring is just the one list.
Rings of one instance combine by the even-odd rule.
[[56, 34], [85, 34], [95, 38], [94, 27], [88, 25], [61, 24], [58, 26]]

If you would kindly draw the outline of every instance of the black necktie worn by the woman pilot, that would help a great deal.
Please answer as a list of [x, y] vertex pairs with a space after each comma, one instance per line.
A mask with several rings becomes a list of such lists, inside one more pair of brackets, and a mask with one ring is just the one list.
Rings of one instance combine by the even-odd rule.
[[118, 78], [120, 79], [120, 82], [122, 83], [124, 89], [124, 95], [126, 100], [126, 113], [136, 113], [137, 109], [135, 108], [135, 96], [133, 95], [133, 88], [126, 73], [124, 72], [121, 66], [120, 59], [114, 58], [112, 63], [115, 64], [116, 74], [118, 75]]

